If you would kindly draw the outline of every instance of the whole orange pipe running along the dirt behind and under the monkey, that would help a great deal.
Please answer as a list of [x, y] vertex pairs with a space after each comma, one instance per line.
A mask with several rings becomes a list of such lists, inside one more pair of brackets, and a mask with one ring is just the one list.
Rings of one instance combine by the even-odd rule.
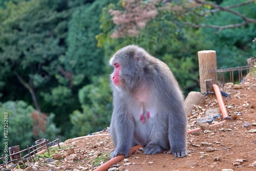
[[[228, 117], [228, 113], [227, 113], [227, 109], [226, 109], [226, 106], [224, 104], [224, 100], [222, 98], [222, 95], [221, 95], [221, 91], [219, 89], [219, 87], [216, 85], [216, 84], [213, 84], [212, 87], [214, 88], [214, 91], [215, 91], [215, 95], [216, 95], [216, 98], [218, 100], [218, 104], [220, 106], [220, 110], [221, 110], [221, 114], [222, 114], [222, 117], [223, 118], [226, 118]], [[226, 120], [223, 120], [221, 122], [218, 122], [218, 123], [215, 123], [215, 124], [212, 124], [210, 125], [210, 127], [214, 127], [214, 126], [217, 126], [217, 125], [220, 125], [222, 123], [225, 123]], [[196, 132], [196, 131], [200, 131], [202, 130], [200, 127], [198, 127], [197, 129], [194, 129], [194, 130], [189, 130], [187, 131], [187, 134], [191, 134], [193, 132]], [[139, 147], [142, 147], [141, 145], [137, 145], [137, 146], [134, 146], [130, 149], [130, 155], [136, 151]], [[114, 157], [113, 159], [111, 159], [110, 161], [102, 164], [101, 166], [99, 166], [98, 168], [96, 168], [94, 171], [103, 171], [103, 170], [108, 170], [113, 164], [116, 164], [118, 163], [119, 161], [121, 161], [122, 159], [124, 158], [124, 155], [118, 155], [116, 157]]]

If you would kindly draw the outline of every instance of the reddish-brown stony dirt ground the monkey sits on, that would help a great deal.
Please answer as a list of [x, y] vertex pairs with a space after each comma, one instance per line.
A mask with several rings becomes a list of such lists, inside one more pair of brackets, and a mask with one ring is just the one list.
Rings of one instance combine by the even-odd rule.
[[[237, 116], [235, 120], [227, 120], [224, 124], [210, 128], [209, 132], [200, 131], [195, 135], [187, 136], [187, 149], [191, 153], [184, 158], [175, 158], [165, 153], [157, 155], [144, 155], [141, 150], [130, 155], [126, 160], [114, 165], [118, 170], [256, 170], [256, 72], [247, 75], [240, 88], [224, 87], [221, 90], [228, 92], [230, 98], [224, 97], [229, 115]], [[203, 109], [217, 108], [215, 95], [206, 97]], [[204, 110], [204, 111], [205, 111]], [[202, 115], [202, 113], [201, 113]], [[203, 117], [203, 116], [201, 116]], [[190, 117], [191, 118], [191, 117]], [[218, 119], [217, 119], [218, 121]], [[220, 121], [220, 119], [219, 119]], [[191, 121], [189, 121], [191, 124]], [[192, 122], [192, 123], [195, 123]], [[113, 151], [114, 147], [108, 131], [93, 136], [80, 137], [67, 140], [63, 145], [70, 145], [75, 151], [78, 160], [68, 160], [67, 150], [56, 153], [62, 159], [51, 168], [47, 164], [39, 165], [37, 170], [94, 170], [95, 159], [99, 163], [105, 161], [100, 157]], [[207, 152], [206, 149], [212, 149]], [[255, 166], [253, 166], [255, 162]], [[53, 163], [54, 164], [54, 163]]]

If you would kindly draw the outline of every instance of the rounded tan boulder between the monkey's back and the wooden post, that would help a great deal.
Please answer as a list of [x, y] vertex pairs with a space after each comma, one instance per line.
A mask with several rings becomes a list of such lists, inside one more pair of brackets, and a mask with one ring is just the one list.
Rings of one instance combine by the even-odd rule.
[[203, 105], [205, 103], [204, 96], [199, 92], [190, 92], [185, 99], [185, 113], [189, 114], [195, 105]]

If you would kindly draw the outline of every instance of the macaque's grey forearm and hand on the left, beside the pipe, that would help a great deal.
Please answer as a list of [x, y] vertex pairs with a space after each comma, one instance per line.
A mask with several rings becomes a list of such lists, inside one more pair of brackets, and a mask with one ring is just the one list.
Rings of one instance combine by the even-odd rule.
[[114, 158], [117, 155], [124, 155], [127, 157], [130, 148], [132, 147], [134, 123], [127, 116], [125, 110], [122, 110], [119, 114], [115, 112], [113, 113], [110, 130], [115, 146], [115, 150], [110, 157]]

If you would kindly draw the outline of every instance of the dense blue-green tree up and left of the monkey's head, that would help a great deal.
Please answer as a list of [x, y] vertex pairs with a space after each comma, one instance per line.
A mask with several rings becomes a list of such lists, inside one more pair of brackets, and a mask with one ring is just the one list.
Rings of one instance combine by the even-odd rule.
[[[69, 22], [68, 49], [63, 65], [75, 75], [85, 78], [90, 83], [94, 75], [103, 73], [104, 51], [97, 47], [95, 36], [100, 33], [100, 13], [101, 9], [109, 1], [95, 1], [90, 5], [78, 7]], [[78, 83], [81, 83], [78, 82]]]

